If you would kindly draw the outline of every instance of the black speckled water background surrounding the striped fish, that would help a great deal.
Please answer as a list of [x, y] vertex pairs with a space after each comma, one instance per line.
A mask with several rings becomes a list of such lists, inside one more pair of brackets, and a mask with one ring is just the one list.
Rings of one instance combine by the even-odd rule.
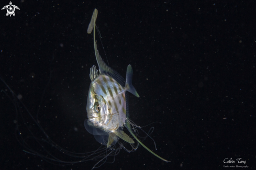
[[[0, 169], [91, 169], [96, 163], [47, 163], [23, 151], [15, 130], [20, 124], [26, 137], [24, 121], [33, 124], [26, 118], [29, 112], [36, 116], [40, 105], [38, 119], [55, 143], [74, 152], [99, 147], [83, 126], [89, 70], [96, 64], [93, 36], [87, 34], [94, 8], [104, 46], [97, 36], [99, 53], [106, 61], [105, 50], [110, 67], [124, 77], [127, 65], [133, 67], [132, 82], [140, 98], [130, 95], [131, 120], [139, 126], [161, 122], [143, 128], [155, 128], [151, 136], [158, 150], [150, 139], [144, 144], [171, 161], [165, 163], [139, 147], [132, 153], [121, 150], [114, 163], [98, 169], [244, 165], [224, 164], [227, 157], [241, 157], [250, 169], [256, 167], [253, 1], [12, 3], [20, 8], [15, 17], [7, 17], [6, 9], [0, 14], [0, 76], [23, 97], [27, 109], [21, 106], [25, 120], [20, 112], [17, 119], [12, 94], [1, 81], [0, 90], [6, 93], [0, 93]], [[0, 4], [2, 8], [9, 2]], [[34, 128], [30, 126], [41, 138]]]

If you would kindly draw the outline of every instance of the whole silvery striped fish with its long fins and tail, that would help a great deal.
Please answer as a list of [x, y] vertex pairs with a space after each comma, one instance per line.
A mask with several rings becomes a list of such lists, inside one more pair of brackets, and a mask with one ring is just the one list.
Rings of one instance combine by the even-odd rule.
[[148, 149], [132, 132], [128, 121], [128, 92], [139, 97], [136, 89], [131, 84], [132, 67], [128, 65], [125, 81], [119, 73], [110, 68], [102, 60], [95, 41], [95, 22], [97, 14], [98, 10], [94, 9], [90, 25], [87, 29], [87, 33], [91, 33], [93, 30], [94, 51], [99, 70], [96, 69], [95, 65], [90, 69], [92, 82], [87, 98], [86, 111], [88, 119], [84, 121], [85, 129], [93, 134], [99, 143], [110, 148], [115, 145], [119, 139], [130, 144], [135, 143], [133, 139], [123, 131], [124, 127], [126, 127], [132, 137], [150, 153], [165, 162], [169, 162]]

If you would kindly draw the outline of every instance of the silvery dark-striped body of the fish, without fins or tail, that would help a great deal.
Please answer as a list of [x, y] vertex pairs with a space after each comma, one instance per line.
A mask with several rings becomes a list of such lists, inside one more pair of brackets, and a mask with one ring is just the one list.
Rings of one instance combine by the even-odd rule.
[[106, 132], [123, 126], [126, 119], [125, 92], [125, 88], [112, 77], [98, 76], [88, 92], [88, 120]]

